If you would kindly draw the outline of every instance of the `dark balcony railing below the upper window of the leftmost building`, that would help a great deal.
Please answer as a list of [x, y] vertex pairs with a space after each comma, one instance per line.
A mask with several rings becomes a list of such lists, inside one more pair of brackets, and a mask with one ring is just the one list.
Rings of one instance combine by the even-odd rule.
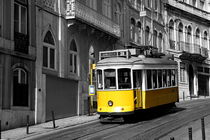
[[28, 35], [15, 32], [14, 33], [15, 51], [28, 54], [29, 37]]

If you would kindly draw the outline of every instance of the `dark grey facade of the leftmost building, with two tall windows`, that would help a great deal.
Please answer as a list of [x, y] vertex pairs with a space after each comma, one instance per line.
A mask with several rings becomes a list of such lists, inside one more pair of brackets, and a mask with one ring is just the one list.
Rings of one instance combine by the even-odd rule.
[[0, 1], [0, 120], [2, 129], [34, 123], [35, 4]]

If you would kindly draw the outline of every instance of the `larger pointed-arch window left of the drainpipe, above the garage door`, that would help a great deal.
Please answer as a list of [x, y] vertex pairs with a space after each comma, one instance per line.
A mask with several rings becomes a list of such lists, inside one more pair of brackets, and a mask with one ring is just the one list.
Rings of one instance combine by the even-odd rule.
[[50, 31], [45, 35], [43, 42], [43, 67], [56, 69], [56, 49], [53, 36]]

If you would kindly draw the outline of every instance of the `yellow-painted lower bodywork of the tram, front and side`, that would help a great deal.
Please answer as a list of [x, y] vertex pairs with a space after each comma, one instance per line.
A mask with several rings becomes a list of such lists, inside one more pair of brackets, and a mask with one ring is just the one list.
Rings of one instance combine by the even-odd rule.
[[[129, 112], [177, 102], [179, 97], [178, 87], [173, 87], [148, 91], [140, 89], [98, 91], [97, 98], [98, 112]], [[111, 107], [108, 105], [110, 100], [113, 102]]]

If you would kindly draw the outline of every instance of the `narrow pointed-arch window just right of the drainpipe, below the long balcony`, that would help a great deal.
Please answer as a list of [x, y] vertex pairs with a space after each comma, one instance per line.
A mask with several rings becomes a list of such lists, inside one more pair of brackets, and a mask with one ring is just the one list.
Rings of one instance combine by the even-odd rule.
[[78, 52], [77, 52], [77, 46], [75, 43], [75, 40], [71, 41], [70, 44], [70, 49], [69, 49], [69, 72], [70, 73], [77, 73], [77, 57], [78, 57]]

